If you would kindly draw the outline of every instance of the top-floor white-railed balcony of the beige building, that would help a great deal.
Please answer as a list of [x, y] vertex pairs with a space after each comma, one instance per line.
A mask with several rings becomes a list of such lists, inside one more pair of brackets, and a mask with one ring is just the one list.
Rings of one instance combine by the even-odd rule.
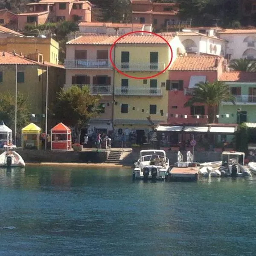
[[73, 59], [64, 61], [65, 68], [70, 69], [111, 69], [112, 64], [108, 60], [86, 60], [86, 59]]

